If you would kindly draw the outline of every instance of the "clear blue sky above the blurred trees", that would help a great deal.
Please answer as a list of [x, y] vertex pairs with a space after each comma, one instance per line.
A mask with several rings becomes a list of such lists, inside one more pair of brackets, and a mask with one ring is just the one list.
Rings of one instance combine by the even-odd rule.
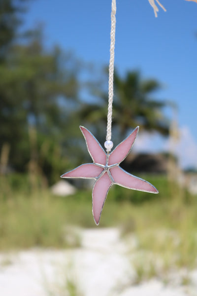
[[[117, 0], [115, 66], [122, 75], [138, 69], [143, 78], [162, 83], [155, 96], [177, 104], [179, 127], [184, 135], [188, 131], [182, 142], [192, 139], [193, 154], [188, 152], [188, 157], [191, 163], [196, 157], [197, 166], [197, 3], [161, 2], [167, 11], [160, 8], [155, 18], [148, 0]], [[107, 65], [110, 13], [111, 0], [35, 0], [24, 26], [42, 22], [47, 47], [59, 44], [86, 62]], [[167, 145], [161, 139], [156, 142], [155, 148]]]

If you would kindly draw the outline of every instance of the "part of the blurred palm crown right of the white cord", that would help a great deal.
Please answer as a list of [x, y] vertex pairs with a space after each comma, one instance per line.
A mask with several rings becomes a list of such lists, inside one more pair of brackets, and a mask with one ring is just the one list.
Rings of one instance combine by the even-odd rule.
[[152, 92], [160, 88], [157, 80], [141, 80], [139, 72], [128, 72], [125, 79], [114, 74], [113, 122], [119, 125], [121, 134], [136, 125], [146, 131], [168, 134], [168, 122], [163, 113], [166, 102], [151, 98]]

